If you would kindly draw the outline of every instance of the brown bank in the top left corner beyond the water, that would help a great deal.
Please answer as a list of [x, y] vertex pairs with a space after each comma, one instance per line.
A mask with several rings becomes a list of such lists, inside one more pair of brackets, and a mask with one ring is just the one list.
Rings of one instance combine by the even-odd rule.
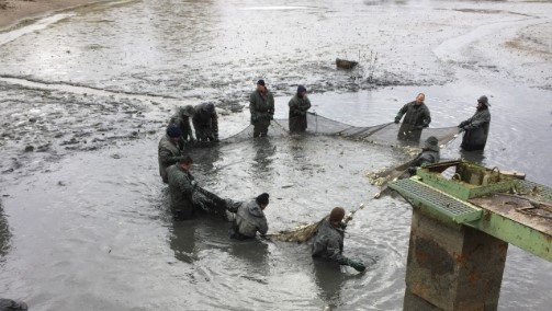
[[12, 28], [25, 20], [38, 19], [53, 12], [108, 1], [110, 0], [0, 0], [0, 32]]

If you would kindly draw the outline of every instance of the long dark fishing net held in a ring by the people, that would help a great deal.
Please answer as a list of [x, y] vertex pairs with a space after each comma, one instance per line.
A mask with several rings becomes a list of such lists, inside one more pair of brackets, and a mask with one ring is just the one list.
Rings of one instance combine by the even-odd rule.
[[[421, 131], [419, 140], [402, 140], [398, 138], [398, 130], [401, 128], [399, 124], [386, 123], [375, 126], [359, 127], [336, 122], [314, 113], [307, 113], [306, 118], [308, 128], [306, 129], [306, 133], [304, 135], [334, 136], [343, 139], [351, 139], [354, 141], [374, 143], [382, 147], [402, 148], [405, 152], [409, 153], [412, 158], [414, 158], [415, 154], [420, 151], [420, 148], [424, 146], [425, 140], [430, 136], [435, 136], [439, 140], [441, 148], [458, 136], [457, 127], [425, 128]], [[252, 134], [254, 127], [250, 125], [238, 134], [223, 139], [221, 143], [228, 145], [246, 141], [252, 138]], [[292, 135], [293, 134], [290, 134], [289, 130], [289, 119], [274, 119], [271, 122], [268, 137], [280, 138], [289, 137]], [[386, 182], [394, 178], [397, 173], [403, 173], [404, 170], [409, 166], [409, 163], [410, 161], [398, 166], [393, 166], [375, 173], [371, 173], [368, 176], [372, 181], [374, 181], [373, 183], [380, 183], [379, 185], [385, 187]], [[308, 241], [316, 233], [320, 223], [322, 221], [316, 221], [313, 223], [298, 226], [290, 230], [269, 233], [268, 237], [278, 241], [302, 243]]]

